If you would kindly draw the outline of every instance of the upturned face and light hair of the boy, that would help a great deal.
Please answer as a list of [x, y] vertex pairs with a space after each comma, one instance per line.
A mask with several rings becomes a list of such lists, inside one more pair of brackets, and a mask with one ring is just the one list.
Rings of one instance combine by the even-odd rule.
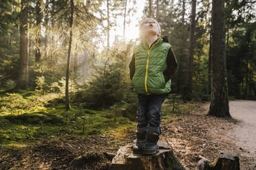
[[142, 34], [145, 34], [145, 36], [147, 35], [155, 36], [157, 34], [158, 36], [160, 36], [160, 30], [158, 28], [156, 21], [153, 21], [151, 19], [143, 21], [140, 29]]

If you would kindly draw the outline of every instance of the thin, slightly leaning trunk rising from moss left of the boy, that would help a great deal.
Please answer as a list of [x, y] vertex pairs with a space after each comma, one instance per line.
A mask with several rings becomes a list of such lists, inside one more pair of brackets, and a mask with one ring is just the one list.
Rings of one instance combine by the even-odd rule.
[[73, 25], [73, 13], [74, 13], [74, 1], [70, 0], [71, 3], [71, 16], [70, 16], [70, 42], [68, 45], [68, 53], [67, 53], [67, 72], [66, 72], [66, 91], [65, 91], [65, 98], [66, 98], [66, 110], [70, 109], [70, 101], [68, 96], [68, 85], [70, 79], [70, 54], [71, 54], [71, 46], [72, 46], [72, 25]]

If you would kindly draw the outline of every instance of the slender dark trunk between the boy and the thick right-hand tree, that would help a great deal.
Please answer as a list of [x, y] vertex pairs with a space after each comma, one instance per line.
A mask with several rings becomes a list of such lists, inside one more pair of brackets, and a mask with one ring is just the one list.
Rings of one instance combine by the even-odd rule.
[[192, 93], [193, 91], [193, 54], [194, 54], [194, 34], [195, 34], [195, 7], [196, 0], [192, 0], [191, 8], [191, 24], [189, 33], [189, 60], [187, 61], [186, 72], [186, 93]]

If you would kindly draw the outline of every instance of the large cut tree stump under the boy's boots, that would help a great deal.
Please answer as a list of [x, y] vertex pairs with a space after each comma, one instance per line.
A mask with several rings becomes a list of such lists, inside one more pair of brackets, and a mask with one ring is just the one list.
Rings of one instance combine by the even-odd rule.
[[163, 141], [158, 141], [159, 151], [153, 155], [133, 154], [133, 145], [136, 145], [136, 140], [118, 149], [112, 159], [111, 170], [185, 170]]

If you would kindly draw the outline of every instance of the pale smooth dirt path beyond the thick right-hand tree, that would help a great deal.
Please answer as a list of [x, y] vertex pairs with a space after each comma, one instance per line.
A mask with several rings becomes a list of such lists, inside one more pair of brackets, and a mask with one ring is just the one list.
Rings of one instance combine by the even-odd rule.
[[248, 150], [249, 156], [256, 157], [256, 101], [235, 100], [229, 102], [231, 117], [239, 121], [231, 130], [237, 145]]

